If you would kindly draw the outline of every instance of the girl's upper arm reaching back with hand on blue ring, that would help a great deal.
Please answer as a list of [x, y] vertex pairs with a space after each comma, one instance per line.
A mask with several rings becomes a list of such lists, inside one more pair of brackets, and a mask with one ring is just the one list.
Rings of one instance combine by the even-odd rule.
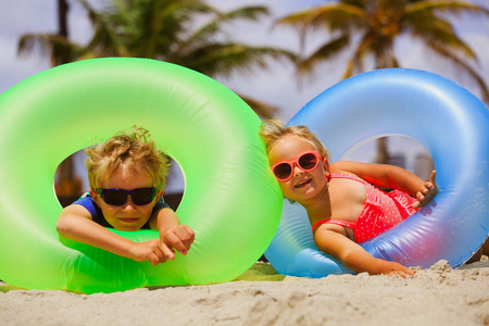
[[431, 172], [428, 181], [404, 168], [387, 164], [338, 161], [331, 164], [330, 171], [354, 174], [376, 186], [404, 191], [417, 199], [415, 209], [426, 205], [438, 193], [436, 171]]

